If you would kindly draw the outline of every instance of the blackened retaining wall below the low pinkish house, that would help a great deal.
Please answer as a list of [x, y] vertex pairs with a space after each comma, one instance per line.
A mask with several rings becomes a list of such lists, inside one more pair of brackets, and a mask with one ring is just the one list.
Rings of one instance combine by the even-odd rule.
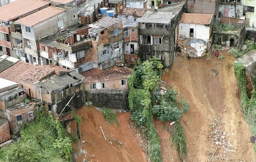
[[96, 107], [129, 109], [128, 90], [90, 90], [91, 101]]

